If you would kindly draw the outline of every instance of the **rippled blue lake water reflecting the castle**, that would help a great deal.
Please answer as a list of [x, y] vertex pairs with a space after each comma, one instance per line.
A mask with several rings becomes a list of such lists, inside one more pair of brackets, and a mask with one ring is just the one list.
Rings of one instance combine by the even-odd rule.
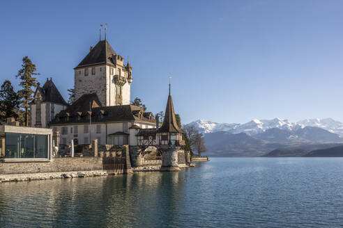
[[342, 227], [343, 158], [0, 184], [0, 227]]

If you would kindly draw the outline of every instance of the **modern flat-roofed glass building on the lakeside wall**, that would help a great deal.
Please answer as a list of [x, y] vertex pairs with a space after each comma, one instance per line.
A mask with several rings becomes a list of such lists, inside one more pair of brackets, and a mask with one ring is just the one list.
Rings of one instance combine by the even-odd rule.
[[52, 129], [0, 126], [3, 161], [45, 161], [51, 158]]

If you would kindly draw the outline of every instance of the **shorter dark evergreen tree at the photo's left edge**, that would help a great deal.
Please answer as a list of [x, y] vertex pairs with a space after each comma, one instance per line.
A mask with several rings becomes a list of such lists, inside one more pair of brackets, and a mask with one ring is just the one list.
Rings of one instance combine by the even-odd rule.
[[8, 80], [4, 81], [0, 88], [0, 122], [5, 121], [8, 117], [17, 119], [15, 108], [18, 108], [19, 104], [19, 96], [13, 90], [12, 83]]

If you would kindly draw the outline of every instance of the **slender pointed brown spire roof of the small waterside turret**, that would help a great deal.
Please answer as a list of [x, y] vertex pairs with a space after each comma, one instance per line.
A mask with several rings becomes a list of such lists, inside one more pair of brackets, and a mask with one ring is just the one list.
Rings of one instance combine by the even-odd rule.
[[162, 127], [160, 127], [157, 132], [159, 133], [168, 133], [168, 132], [183, 133], [183, 130], [181, 130], [178, 127], [178, 124], [176, 122], [173, 99], [172, 99], [172, 95], [170, 95], [170, 89], [169, 89], [167, 107], [165, 108], [165, 120], [163, 120]]

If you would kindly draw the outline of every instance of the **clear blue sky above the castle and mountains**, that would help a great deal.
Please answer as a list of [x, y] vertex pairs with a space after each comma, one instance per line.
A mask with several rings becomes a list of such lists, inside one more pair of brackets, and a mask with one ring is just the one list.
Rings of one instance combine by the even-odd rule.
[[22, 57], [63, 97], [75, 67], [109, 24], [107, 40], [132, 64], [131, 99], [176, 113], [247, 122], [343, 121], [343, 1], [1, 1], [0, 80]]

